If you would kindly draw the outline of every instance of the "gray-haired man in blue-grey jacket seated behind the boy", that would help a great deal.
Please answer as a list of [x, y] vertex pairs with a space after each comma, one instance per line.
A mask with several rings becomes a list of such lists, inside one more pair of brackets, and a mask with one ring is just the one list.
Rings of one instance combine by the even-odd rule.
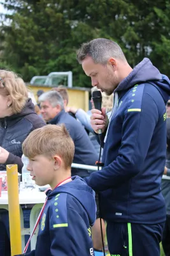
[[[67, 131], [69, 131], [69, 135], [75, 145], [73, 163], [95, 166], [98, 160], [95, 148], [80, 122], [66, 113], [60, 93], [54, 91], [45, 92], [39, 97], [39, 102], [41, 103], [41, 114], [47, 124], [64, 124]], [[84, 178], [89, 176], [90, 171], [72, 168], [71, 174], [72, 176], [78, 175]]]

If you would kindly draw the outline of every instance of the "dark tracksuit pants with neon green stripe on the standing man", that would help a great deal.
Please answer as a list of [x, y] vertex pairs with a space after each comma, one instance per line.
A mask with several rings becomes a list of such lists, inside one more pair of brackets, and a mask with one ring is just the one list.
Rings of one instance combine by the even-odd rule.
[[164, 223], [107, 223], [108, 248], [111, 256], [160, 256], [159, 243]]

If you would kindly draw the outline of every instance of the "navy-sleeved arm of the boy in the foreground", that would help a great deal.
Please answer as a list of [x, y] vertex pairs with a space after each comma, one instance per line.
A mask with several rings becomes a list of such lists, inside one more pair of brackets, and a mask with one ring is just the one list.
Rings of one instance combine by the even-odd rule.
[[[66, 194], [65, 194], [66, 195]], [[66, 196], [62, 193], [61, 202], [58, 202], [56, 212], [55, 209], [50, 209], [50, 255], [52, 256], [90, 256], [90, 248], [92, 248], [91, 237], [88, 228], [76, 210], [77, 203], [70, 199], [71, 205], [74, 208], [66, 207], [64, 201]], [[60, 195], [61, 196], [61, 195]], [[66, 202], [66, 201], [65, 201]], [[58, 216], [58, 217], [57, 217]], [[89, 246], [90, 245], [90, 246]]]

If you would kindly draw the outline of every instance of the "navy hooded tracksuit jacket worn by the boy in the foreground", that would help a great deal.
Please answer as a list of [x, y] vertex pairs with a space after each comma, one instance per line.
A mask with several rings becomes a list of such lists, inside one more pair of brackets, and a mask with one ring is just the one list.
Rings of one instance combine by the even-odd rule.
[[27, 256], [94, 256], [90, 227], [96, 220], [95, 193], [78, 176], [47, 192], [36, 250]]

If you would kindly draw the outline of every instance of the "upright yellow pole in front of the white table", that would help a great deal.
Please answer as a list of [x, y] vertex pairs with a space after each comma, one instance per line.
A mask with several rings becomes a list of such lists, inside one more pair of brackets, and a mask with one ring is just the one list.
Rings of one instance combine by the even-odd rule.
[[6, 171], [8, 180], [11, 256], [13, 256], [22, 253], [17, 164], [7, 165]]

